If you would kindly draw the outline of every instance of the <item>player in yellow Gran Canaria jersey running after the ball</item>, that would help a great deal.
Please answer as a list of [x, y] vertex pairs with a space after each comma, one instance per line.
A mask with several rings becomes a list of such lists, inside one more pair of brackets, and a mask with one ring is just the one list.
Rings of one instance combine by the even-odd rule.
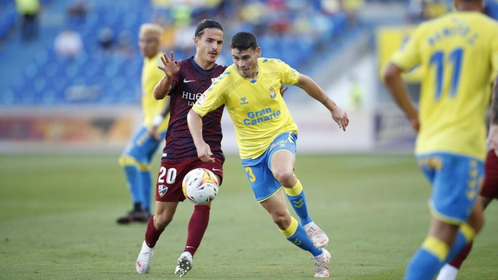
[[[202, 137], [202, 117], [225, 104], [256, 200], [287, 240], [313, 255], [315, 277], [329, 277], [330, 253], [323, 248], [329, 239], [309, 216], [303, 186], [294, 175], [297, 126], [278, 89], [283, 84], [302, 88], [330, 110], [343, 130], [348, 116], [309, 77], [278, 59], [259, 58], [261, 49], [252, 33], [235, 34], [231, 49], [234, 64], [212, 83], [187, 116], [197, 154], [205, 162], [214, 160]], [[289, 214], [282, 186], [300, 224]]]

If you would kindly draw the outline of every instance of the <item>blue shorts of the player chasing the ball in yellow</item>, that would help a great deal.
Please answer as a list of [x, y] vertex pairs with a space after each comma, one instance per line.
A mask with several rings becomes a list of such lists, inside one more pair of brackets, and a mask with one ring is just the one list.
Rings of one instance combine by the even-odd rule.
[[254, 159], [242, 159], [242, 166], [244, 166], [244, 171], [258, 202], [270, 198], [282, 187], [271, 172], [271, 158], [273, 154], [281, 150], [286, 150], [296, 156], [296, 140], [297, 134], [293, 132], [282, 133], [271, 142], [262, 155]]

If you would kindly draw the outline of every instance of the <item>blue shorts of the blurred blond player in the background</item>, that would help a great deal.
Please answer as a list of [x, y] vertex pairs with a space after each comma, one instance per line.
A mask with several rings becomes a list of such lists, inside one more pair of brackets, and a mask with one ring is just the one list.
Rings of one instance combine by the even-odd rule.
[[[164, 139], [166, 131], [159, 134], [159, 139]], [[150, 137], [147, 128], [141, 127], [129, 141], [123, 155], [131, 156], [143, 164], [149, 164], [161, 140]]]

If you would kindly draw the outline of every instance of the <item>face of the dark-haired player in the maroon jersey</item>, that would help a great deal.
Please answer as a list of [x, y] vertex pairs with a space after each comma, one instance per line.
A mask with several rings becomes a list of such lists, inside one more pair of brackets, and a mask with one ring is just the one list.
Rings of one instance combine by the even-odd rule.
[[204, 34], [194, 38], [196, 56], [209, 63], [215, 63], [221, 52], [223, 31], [218, 28], [206, 28]]

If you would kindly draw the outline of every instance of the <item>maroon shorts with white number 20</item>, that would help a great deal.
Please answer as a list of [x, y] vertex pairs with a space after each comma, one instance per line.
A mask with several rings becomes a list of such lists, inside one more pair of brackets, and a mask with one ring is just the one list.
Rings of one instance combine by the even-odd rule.
[[159, 174], [157, 175], [156, 201], [184, 201], [185, 196], [182, 191], [183, 177], [195, 168], [209, 169], [223, 180], [223, 164], [218, 157], [215, 157], [214, 163], [204, 162], [199, 158], [188, 158], [178, 162], [161, 162]]

